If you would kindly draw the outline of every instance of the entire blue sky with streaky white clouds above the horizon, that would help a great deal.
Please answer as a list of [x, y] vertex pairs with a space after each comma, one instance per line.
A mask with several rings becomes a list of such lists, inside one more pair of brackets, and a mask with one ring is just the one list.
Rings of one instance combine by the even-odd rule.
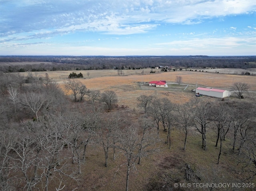
[[0, 55], [256, 55], [256, 1], [0, 0]]

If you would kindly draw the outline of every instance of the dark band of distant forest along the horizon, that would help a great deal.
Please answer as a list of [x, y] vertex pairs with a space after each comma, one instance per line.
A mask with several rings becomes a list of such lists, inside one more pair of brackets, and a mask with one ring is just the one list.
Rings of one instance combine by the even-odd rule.
[[[1, 56], [0, 63], [42, 62], [39, 65], [0, 65], [3, 72], [143, 69], [160, 65], [176, 68], [252, 68], [256, 56], [209, 57], [209, 56]], [[43, 63], [47, 62], [47, 63]]]

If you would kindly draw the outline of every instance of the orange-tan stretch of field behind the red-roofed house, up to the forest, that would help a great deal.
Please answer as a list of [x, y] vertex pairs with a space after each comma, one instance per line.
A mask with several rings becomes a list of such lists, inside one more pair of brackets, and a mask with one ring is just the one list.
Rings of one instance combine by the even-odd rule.
[[[197, 83], [198, 86], [229, 89], [232, 86], [232, 83], [241, 81], [244, 83], [248, 83], [248, 85], [250, 85], [251, 91], [256, 91], [255, 76], [228, 75], [220, 73], [206, 73], [199, 71], [160, 72], [160, 69], [153, 69], [153, 71], [156, 71], [156, 73], [150, 73], [150, 71], [151, 69], [124, 70], [123, 75], [118, 75], [117, 70], [47, 71], [32, 72], [32, 74], [38, 77], [44, 77], [45, 73], [48, 73], [49, 77], [54, 81], [63, 82], [66, 79], [68, 79], [68, 75], [70, 73], [81, 72], [84, 76], [84, 79], [80, 80], [84, 83], [87, 83], [88, 88], [94, 87], [96, 89], [101, 89], [97, 88], [97, 85], [99, 83], [104, 83], [104, 86], [116, 86], [126, 83], [131, 85], [134, 82], [149, 82], [158, 80], [166, 80], [166, 82], [168, 83], [176, 82], [176, 76], [181, 76], [183, 84], [196, 85]], [[229, 71], [232, 72], [233, 69], [229, 69]], [[27, 73], [20, 73], [20, 75], [26, 76]]]

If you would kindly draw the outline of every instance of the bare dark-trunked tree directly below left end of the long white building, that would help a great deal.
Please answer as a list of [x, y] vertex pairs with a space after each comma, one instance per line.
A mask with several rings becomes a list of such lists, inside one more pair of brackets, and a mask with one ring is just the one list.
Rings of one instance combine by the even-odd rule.
[[206, 150], [206, 126], [211, 122], [211, 106], [211, 103], [198, 100], [197, 98], [192, 100], [193, 126], [202, 134], [202, 148], [204, 150]]

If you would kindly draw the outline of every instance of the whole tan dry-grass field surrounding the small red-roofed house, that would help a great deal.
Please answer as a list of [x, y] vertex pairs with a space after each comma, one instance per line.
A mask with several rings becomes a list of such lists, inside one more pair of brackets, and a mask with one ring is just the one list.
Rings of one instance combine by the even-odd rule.
[[[232, 69], [230, 69], [231, 71]], [[234, 82], [244, 82], [250, 85], [250, 91], [256, 91], [256, 76], [248, 75], [228, 75], [220, 73], [206, 73], [195, 71], [170, 71], [160, 72], [160, 69], [154, 69], [156, 73], [150, 73], [151, 69], [124, 70], [123, 75], [118, 75], [117, 70], [88, 70], [88, 71], [47, 71], [49, 77], [59, 83], [63, 88], [64, 82], [68, 80], [68, 75], [72, 72], [82, 73], [84, 79], [79, 79], [88, 89], [114, 90], [119, 97], [120, 106], [136, 107], [136, 98], [140, 95], [156, 95], [158, 97], [166, 96], [172, 102], [182, 103], [188, 101], [194, 93], [191, 89], [197, 87], [212, 87], [220, 89], [230, 89]], [[37, 77], [44, 77], [46, 72], [32, 72]], [[27, 75], [27, 73], [20, 73]], [[150, 87], [144, 90], [141, 86], [149, 81], [166, 80], [167, 83], [175, 83], [176, 76], [182, 77], [182, 83], [189, 85], [184, 91], [186, 85], [174, 87], [168, 85], [168, 88]], [[184, 87], [184, 89], [183, 89]], [[183, 90], [181, 90], [183, 89]]]

